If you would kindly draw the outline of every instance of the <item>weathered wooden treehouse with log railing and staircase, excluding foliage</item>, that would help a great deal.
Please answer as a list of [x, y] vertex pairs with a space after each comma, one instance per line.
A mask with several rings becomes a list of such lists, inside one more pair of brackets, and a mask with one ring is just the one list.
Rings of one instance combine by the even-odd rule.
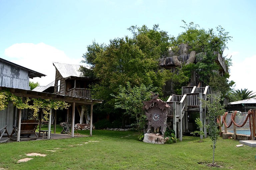
[[[171, 70], [171, 72], [176, 72], [177, 68], [182, 66], [182, 63], [186, 65], [188, 63], [196, 63], [202, 59], [201, 53], [196, 53], [196, 51], [188, 52], [188, 44], [182, 43], [179, 45], [179, 48], [179, 56], [174, 55], [170, 50], [168, 57], [159, 59], [159, 65], [162, 68]], [[219, 69], [213, 71], [218, 72], [220, 75], [228, 73], [225, 59], [216, 52], [214, 52], [214, 54], [216, 54], [216, 58], [212, 62], [217, 63]], [[170, 106], [170, 110], [168, 110], [167, 114], [167, 125], [175, 130], [177, 137], [182, 141], [183, 133], [190, 133], [196, 130], [194, 123], [196, 119], [195, 115], [199, 115], [203, 125], [207, 124], [207, 109], [202, 107], [200, 99], [206, 100], [207, 95], [213, 92], [210, 86], [203, 84], [203, 82], [199, 80], [196, 71], [193, 71], [188, 86], [182, 87], [181, 95], [173, 94], [173, 87], [174, 83], [171, 80], [167, 81], [164, 87], [165, 94], [170, 95], [166, 102]], [[204, 131], [206, 137], [206, 127], [204, 126], [204, 129], [200, 128], [200, 130]], [[201, 135], [200, 138], [202, 139], [203, 136]]]

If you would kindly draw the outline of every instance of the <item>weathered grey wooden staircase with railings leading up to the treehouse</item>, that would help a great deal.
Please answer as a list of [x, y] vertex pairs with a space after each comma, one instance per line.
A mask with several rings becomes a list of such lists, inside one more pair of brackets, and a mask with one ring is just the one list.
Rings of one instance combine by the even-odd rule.
[[[182, 141], [182, 133], [188, 131], [187, 112], [199, 112], [200, 121], [206, 125], [206, 113], [205, 108], [202, 108], [202, 102], [200, 99], [205, 100], [206, 96], [211, 94], [211, 87], [196, 87], [187, 86], [182, 87], [182, 95], [171, 94], [167, 100], [167, 104], [170, 106], [168, 110], [167, 118], [172, 120], [173, 129], [177, 135], [177, 126], [179, 131], [179, 139]], [[184, 117], [185, 115], [185, 117]], [[186, 120], [186, 121], [185, 121]], [[200, 130], [203, 130], [202, 128]], [[206, 137], [206, 127], [204, 126], [204, 134]], [[200, 136], [203, 138], [203, 135]]]

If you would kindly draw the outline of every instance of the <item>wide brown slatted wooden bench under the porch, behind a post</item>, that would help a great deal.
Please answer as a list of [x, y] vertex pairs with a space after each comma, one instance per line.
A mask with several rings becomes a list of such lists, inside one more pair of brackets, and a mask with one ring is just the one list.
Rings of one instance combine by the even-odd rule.
[[[21, 126], [20, 126], [20, 134], [28, 134], [27, 137], [28, 138], [25, 138], [25, 139], [29, 139], [29, 140], [34, 140], [34, 139], [37, 139], [38, 136], [36, 134], [36, 129], [37, 129], [37, 126], [39, 124], [39, 121], [38, 120], [22, 120], [21, 121]], [[18, 128], [16, 126], [13, 125], [13, 130], [12, 130], [12, 133], [11, 133], [11, 137], [12, 135], [16, 133], [16, 135], [18, 134]], [[36, 137], [34, 138], [30, 138], [30, 134], [35, 134]], [[20, 138], [21, 139], [24, 139], [24, 138]]]

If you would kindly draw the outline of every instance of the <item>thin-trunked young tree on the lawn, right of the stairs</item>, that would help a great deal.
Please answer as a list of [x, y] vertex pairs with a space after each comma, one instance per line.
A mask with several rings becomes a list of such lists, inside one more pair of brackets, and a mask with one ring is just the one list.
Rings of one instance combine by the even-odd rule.
[[217, 118], [224, 114], [225, 109], [221, 104], [221, 96], [210, 94], [207, 96], [207, 100], [200, 100], [202, 102], [202, 106], [206, 107], [208, 110], [208, 122], [207, 128], [209, 129], [209, 137], [211, 138], [213, 145], [213, 157], [212, 163], [214, 164], [214, 153], [216, 142], [219, 137], [219, 124], [217, 123]]

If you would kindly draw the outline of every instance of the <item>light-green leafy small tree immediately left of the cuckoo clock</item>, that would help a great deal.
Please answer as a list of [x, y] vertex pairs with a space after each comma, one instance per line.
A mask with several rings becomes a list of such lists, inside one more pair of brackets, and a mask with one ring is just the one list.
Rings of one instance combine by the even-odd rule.
[[127, 86], [119, 86], [118, 95], [115, 97], [115, 108], [125, 110], [124, 115], [136, 119], [136, 124], [133, 126], [144, 134], [143, 129], [146, 125], [146, 115], [143, 111], [143, 101], [150, 100], [150, 91], [155, 90], [152, 86], [146, 87], [144, 84], [131, 87], [130, 82]]

